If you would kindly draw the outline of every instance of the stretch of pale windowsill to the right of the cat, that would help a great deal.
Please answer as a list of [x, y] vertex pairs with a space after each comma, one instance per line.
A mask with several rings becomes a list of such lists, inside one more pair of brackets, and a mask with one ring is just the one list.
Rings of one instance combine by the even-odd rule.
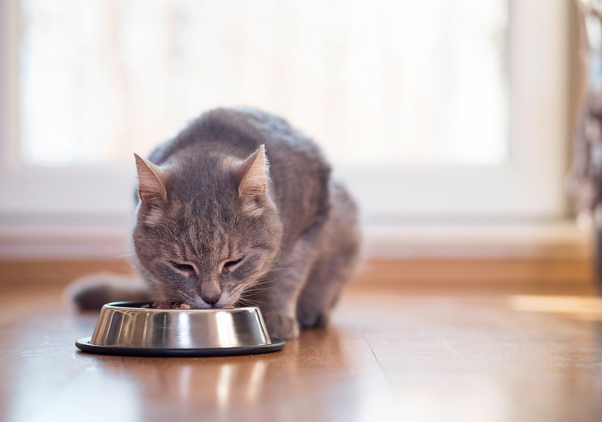
[[573, 219], [541, 223], [369, 226], [372, 258], [583, 258], [590, 253], [587, 223]]

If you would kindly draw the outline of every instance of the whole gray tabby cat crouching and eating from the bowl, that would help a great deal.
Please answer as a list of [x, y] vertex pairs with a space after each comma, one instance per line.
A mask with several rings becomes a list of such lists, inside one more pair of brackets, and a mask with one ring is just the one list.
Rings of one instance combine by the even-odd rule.
[[157, 296], [193, 308], [258, 305], [271, 335], [327, 323], [358, 261], [355, 203], [318, 146], [285, 120], [202, 114], [138, 171], [132, 231], [146, 288], [88, 285], [82, 308]]

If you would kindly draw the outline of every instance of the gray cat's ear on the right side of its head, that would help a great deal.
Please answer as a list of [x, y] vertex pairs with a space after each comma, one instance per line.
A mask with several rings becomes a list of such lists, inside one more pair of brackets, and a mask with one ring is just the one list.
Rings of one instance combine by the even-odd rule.
[[270, 179], [270, 162], [265, 155], [265, 145], [260, 145], [249, 158], [244, 160], [238, 173], [240, 175], [238, 197], [243, 200], [250, 213], [261, 214], [264, 199], [267, 199], [265, 192]]

